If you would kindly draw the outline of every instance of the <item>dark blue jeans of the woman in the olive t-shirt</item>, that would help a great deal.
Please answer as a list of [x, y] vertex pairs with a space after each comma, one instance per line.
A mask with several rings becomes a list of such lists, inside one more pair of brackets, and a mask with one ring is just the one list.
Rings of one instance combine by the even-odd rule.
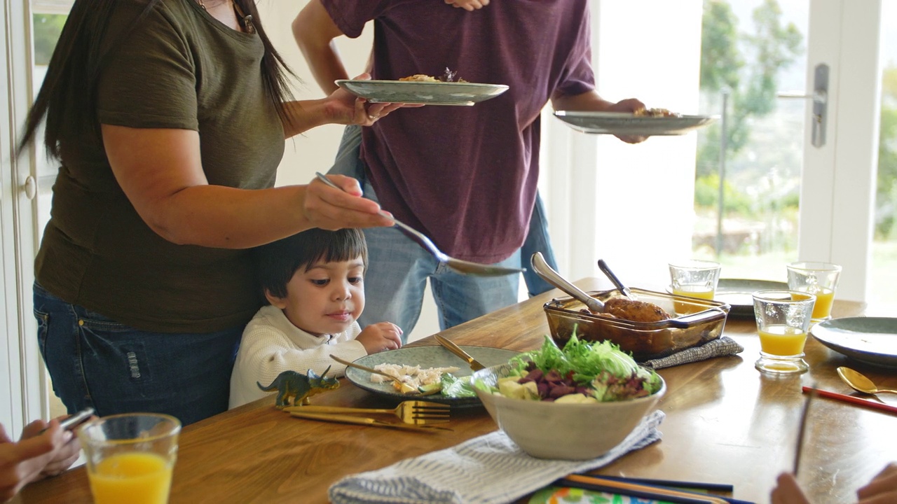
[[60, 300], [34, 284], [40, 353], [68, 413], [168, 413], [187, 425], [227, 411], [243, 327], [148, 333]]

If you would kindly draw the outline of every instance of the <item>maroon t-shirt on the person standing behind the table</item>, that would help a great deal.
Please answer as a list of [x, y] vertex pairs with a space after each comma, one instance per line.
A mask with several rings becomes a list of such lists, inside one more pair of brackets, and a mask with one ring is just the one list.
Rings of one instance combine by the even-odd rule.
[[509, 85], [473, 107], [401, 109], [363, 128], [384, 209], [450, 256], [494, 263], [520, 248], [536, 198], [539, 113], [595, 88], [588, 0], [321, 0], [348, 37], [374, 21], [374, 79], [440, 76]]

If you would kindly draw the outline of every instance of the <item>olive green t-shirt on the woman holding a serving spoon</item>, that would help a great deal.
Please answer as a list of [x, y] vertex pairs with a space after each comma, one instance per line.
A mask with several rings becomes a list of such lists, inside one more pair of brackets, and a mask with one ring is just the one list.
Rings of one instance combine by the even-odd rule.
[[[257, 33], [231, 30], [194, 0], [161, 0], [128, 31], [143, 6], [121, 1], [110, 17], [105, 45], [116, 47], [100, 74], [100, 124], [196, 130], [209, 184], [272, 187], [283, 125]], [[36, 261], [48, 291], [154, 332], [218, 331], [262, 305], [248, 250], [162, 239], [118, 186], [100, 137], [64, 146], [61, 157]]]

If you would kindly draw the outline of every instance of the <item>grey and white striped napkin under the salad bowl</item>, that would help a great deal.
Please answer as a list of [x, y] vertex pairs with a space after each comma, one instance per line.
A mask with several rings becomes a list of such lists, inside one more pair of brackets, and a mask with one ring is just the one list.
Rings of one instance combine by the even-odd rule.
[[528, 456], [501, 430], [376, 471], [352, 474], [330, 487], [334, 504], [479, 504], [511, 502], [567, 474], [609, 464], [660, 439], [665, 414], [650, 413], [603, 456], [548, 460]]

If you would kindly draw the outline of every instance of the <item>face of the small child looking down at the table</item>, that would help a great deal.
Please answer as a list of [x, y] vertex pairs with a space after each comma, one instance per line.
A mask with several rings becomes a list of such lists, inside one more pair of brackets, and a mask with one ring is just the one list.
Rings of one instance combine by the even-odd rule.
[[283, 310], [293, 326], [312, 335], [342, 333], [364, 309], [364, 264], [351, 261], [318, 262], [300, 268], [286, 284], [286, 298], [266, 292], [268, 301]]

